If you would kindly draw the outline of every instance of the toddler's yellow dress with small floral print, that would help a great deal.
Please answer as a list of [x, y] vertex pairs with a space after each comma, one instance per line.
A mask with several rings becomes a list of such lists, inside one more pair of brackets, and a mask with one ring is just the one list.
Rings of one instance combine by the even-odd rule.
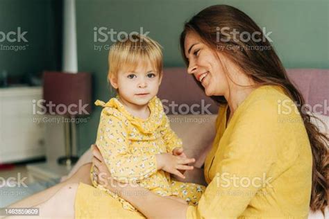
[[[169, 127], [169, 119], [159, 98], [150, 100], [148, 119], [130, 114], [119, 102], [119, 96], [111, 98], [108, 103], [96, 100], [95, 104], [104, 107], [96, 145], [114, 179], [125, 183], [137, 182], [158, 195], [183, 198], [190, 205], [198, 203], [204, 186], [174, 181], [169, 173], [157, 170], [155, 155], [182, 147], [182, 141]], [[137, 211], [129, 202], [97, 184], [93, 166], [91, 177], [96, 188], [119, 200], [124, 209]]]

